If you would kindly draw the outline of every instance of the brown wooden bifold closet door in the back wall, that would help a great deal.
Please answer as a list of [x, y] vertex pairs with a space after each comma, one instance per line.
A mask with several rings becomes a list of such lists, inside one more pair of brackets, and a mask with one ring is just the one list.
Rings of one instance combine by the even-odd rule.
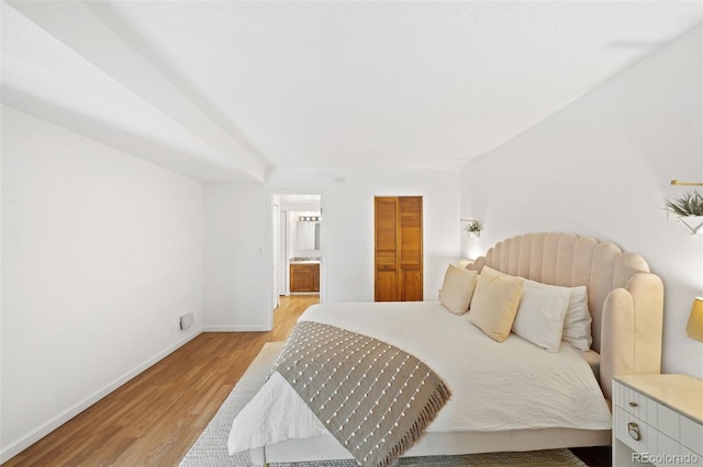
[[375, 300], [422, 300], [422, 196], [377, 196], [375, 223]]

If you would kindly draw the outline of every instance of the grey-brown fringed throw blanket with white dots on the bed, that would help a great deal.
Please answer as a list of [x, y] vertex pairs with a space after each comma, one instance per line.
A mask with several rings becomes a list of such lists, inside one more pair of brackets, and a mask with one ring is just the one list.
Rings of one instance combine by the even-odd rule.
[[274, 369], [362, 466], [392, 465], [450, 396], [413, 355], [313, 321], [295, 326]]

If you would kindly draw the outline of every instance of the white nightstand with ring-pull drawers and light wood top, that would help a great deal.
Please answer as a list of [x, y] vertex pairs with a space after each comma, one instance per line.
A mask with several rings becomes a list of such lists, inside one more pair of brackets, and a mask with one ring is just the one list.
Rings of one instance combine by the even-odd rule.
[[703, 380], [628, 375], [613, 380], [613, 467], [703, 467]]

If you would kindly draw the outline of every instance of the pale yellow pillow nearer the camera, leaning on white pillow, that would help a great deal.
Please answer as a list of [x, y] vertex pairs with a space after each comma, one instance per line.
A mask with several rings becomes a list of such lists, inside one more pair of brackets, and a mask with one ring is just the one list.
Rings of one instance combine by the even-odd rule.
[[503, 342], [515, 321], [521, 295], [521, 280], [480, 274], [471, 299], [469, 321], [489, 338]]

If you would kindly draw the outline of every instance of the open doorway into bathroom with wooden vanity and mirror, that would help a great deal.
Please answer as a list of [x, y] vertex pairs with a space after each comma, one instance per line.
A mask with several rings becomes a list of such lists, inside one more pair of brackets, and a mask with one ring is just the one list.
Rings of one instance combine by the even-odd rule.
[[322, 195], [281, 193], [272, 196], [272, 305], [282, 296], [324, 292]]

